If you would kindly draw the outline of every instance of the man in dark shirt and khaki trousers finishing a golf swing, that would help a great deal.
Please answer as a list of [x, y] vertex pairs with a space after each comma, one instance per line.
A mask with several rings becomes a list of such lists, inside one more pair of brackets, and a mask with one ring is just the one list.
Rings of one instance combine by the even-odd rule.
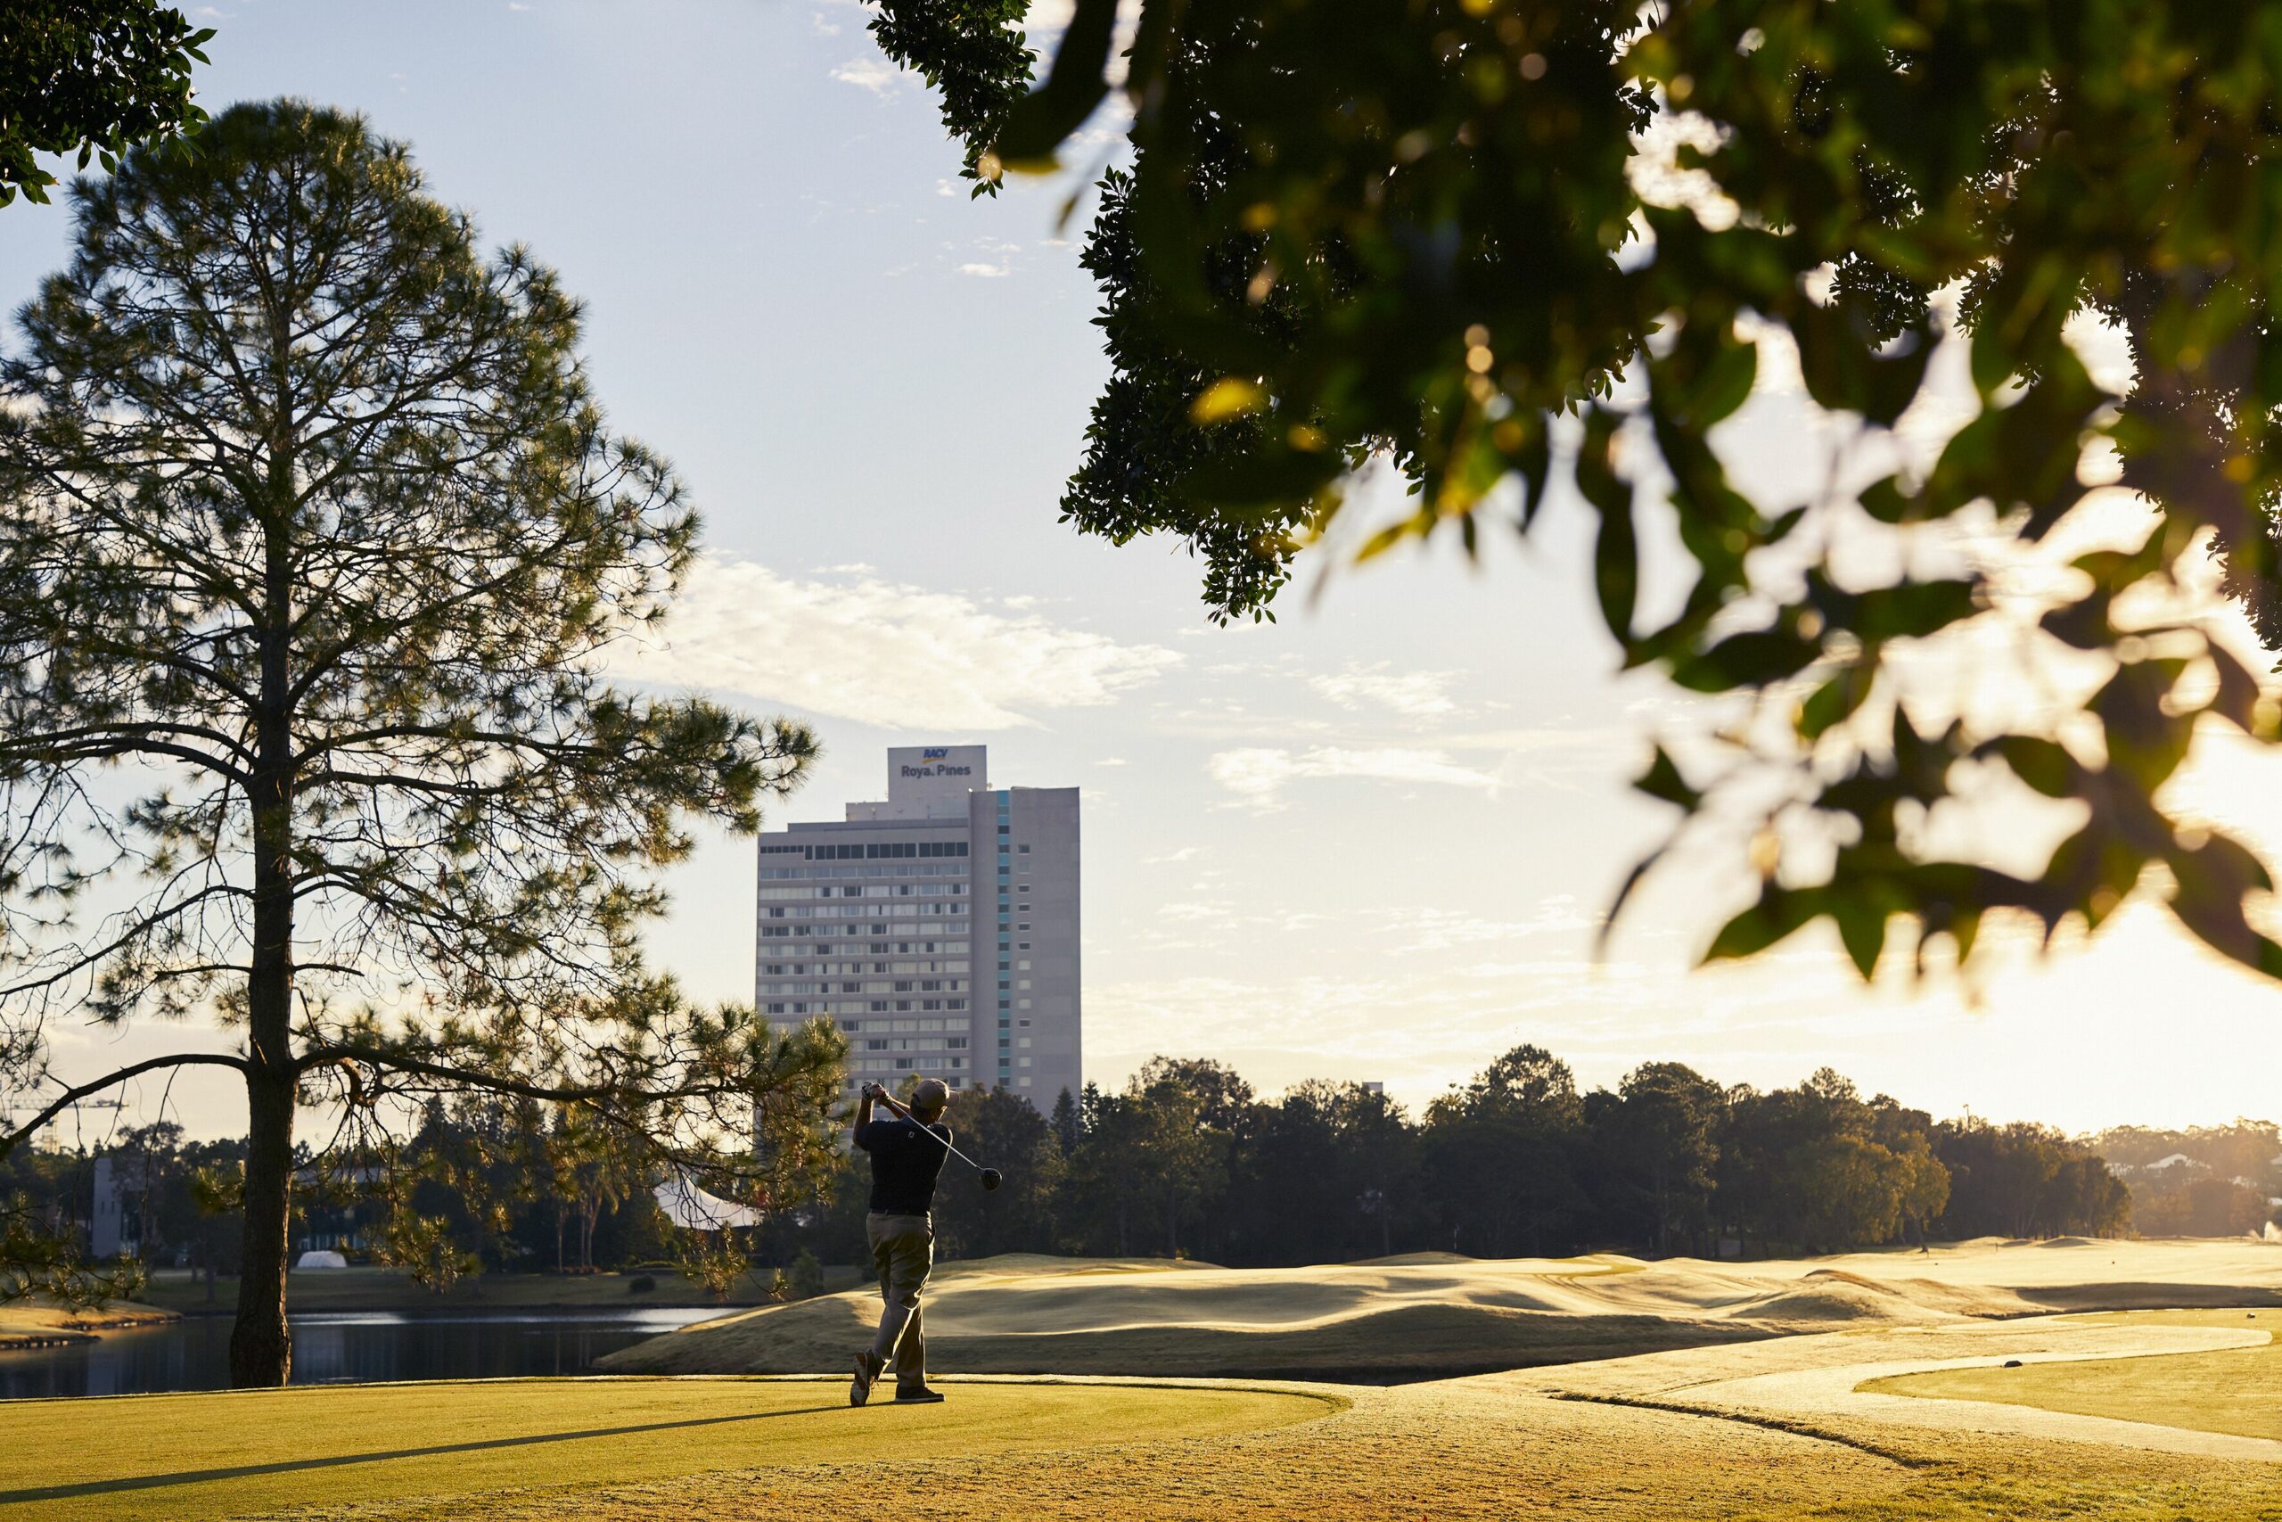
[[[920, 1330], [920, 1289], [936, 1266], [936, 1177], [949, 1157], [952, 1127], [942, 1125], [942, 1107], [952, 1091], [938, 1079], [924, 1079], [911, 1093], [911, 1118], [872, 1118], [872, 1104], [888, 1100], [879, 1084], [865, 1084], [856, 1102], [856, 1145], [872, 1155], [872, 1214], [865, 1237], [872, 1264], [879, 1269], [879, 1337], [856, 1355], [856, 1381], [849, 1406], [872, 1399], [872, 1385], [895, 1360], [897, 1401], [940, 1401], [926, 1387], [926, 1335]], [[892, 1100], [888, 1100], [892, 1104]], [[924, 1132], [920, 1127], [926, 1127]], [[931, 1132], [931, 1134], [929, 1134]]]

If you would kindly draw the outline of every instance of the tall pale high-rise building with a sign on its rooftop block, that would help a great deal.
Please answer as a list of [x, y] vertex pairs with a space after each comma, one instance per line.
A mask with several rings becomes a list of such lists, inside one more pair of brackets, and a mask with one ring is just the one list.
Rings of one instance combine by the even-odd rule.
[[753, 1002], [828, 1018], [849, 1084], [1077, 1093], [1077, 790], [990, 787], [986, 746], [888, 751], [888, 799], [760, 837]]

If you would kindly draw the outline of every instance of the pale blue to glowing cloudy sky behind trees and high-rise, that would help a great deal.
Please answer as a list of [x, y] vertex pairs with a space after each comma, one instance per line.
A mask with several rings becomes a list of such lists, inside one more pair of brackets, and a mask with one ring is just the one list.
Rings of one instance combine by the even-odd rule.
[[[586, 301], [614, 427], [675, 461], [705, 516], [671, 648], [625, 675], [817, 726], [826, 755], [771, 824], [883, 796], [890, 744], [984, 742], [993, 785], [1084, 790], [1091, 1079], [1168, 1052], [1262, 1091], [1378, 1079], [1422, 1107], [1527, 1041], [1586, 1086], [1661, 1059], [1757, 1086], [1832, 1066], [1942, 1116], [2072, 1132], [2282, 1111], [2282, 990], [2147, 904], [2052, 952], [1997, 936], [1972, 983], [1889, 958], [1864, 986], [1828, 924], [1698, 972], [1755, 892], [1737, 858], [1705, 858], [1595, 956], [1670, 824], [1627, 778], [1700, 719], [1618, 678], [1586, 513], [1556, 500], [1479, 564], [1321, 554], [1276, 623], [1237, 628], [1207, 621], [1178, 543], [1057, 523], [1107, 374], [1061, 235], [1084, 210], [1061, 228], [1052, 183], [970, 201], [933, 100], [858, 5], [196, 9], [217, 27], [208, 110], [365, 112], [486, 242], [527, 244]], [[0, 210], [0, 303], [66, 237], [62, 205]], [[1816, 479], [1832, 443], [1810, 413], [1769, 374], [1723, 452], [1769, 488]], [[2241, 746], [2182, 785], [2277, 847], [2277, 780]], [[751, 997], [751, 842], [705, 837], [671, 888], [657, 961], [701, 997]], [[57, 1066], [180, 1041], [59, 1031]], [[164, 1098], [194, 1130], [242, 1127], [226, 1086]]]

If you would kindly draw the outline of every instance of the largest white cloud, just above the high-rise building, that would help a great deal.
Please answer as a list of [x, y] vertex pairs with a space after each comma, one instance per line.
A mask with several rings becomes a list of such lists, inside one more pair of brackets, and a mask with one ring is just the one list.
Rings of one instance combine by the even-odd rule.
[[612, 671], [883, 728], [1004, 730], [1116, 703], [1180, 662], [872, 570], [796, 580], [707, 552], [664, 637], [628, 646]]

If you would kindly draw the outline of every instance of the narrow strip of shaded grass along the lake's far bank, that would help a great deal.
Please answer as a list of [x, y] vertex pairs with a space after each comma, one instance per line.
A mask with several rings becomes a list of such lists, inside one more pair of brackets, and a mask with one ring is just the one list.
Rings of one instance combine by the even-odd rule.
[[[637, 1294], [637, 1273], [484, 1273], [436, 1294], [422, 1289], [402, 1269], [304, 1269], [285, 1280], [285, 1303], [292, 1310], [520, 1310], [520, 1308], [639, 1308], [639, 1305], [712, 1305], [714, 1298], [664, 1269], [648, 1271], [655, 1289]], [[856, 1285], [853, 1269], [826, 1269], [828, 1289]], [[769, 1298], [767, 1273], [748, 1276], [723, 1305], [762, 1305]], [[205, 1298], [205, 1276], [162, 1269], [151, 1276], [141, 1303], [180, 1312], [228, 1312], [237, 1305], [237, 1280], [215, 1280], [215, 1298]]]

